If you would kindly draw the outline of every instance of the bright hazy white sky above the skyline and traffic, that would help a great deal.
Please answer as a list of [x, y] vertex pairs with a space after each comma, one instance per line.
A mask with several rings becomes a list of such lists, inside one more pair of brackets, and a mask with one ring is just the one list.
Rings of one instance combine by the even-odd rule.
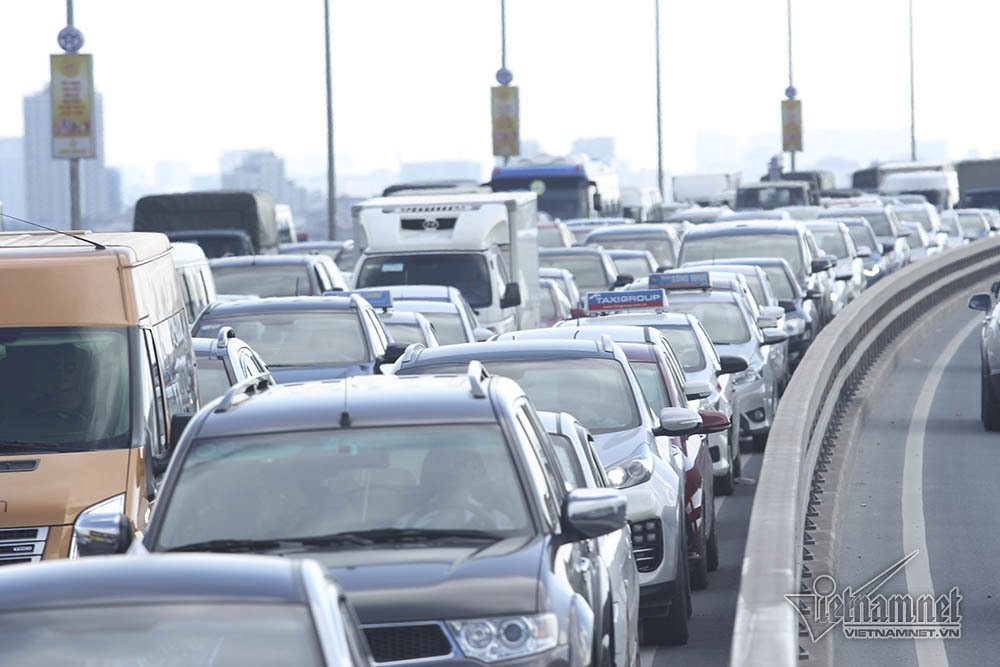
[[[1000, 147], [1000, 3], [913, 0], [917, 133], [953, 157]], [[338, 169], [488, 160], [499, 0], [330, 0]], [[908, 128], [906, 0], [792, 0], [795, 84], [810, 129]], [[0, 136], [48, 80], [63, 0], [0, 0]], [[325, 160], [322, 0], [76, 0], [104, 95], [111, 165], [271, 148]], [[697, 132], [780, 128], [785, 0], [661, 0], [665, 161], [695, 166]], [[656, 164], [653, 0], [508, 0], [522, 137], [563, 152], [614, 136]], [[777, 151], [777, 147], [776, 147]], [[816, 156], [819, 157], [819, 156]]]

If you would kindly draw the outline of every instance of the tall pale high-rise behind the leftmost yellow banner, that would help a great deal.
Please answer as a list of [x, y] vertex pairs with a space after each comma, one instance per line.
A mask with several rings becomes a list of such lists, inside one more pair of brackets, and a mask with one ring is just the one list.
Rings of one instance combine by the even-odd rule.
[[[24, 98], [24, 164], [28, 219], [44, 225], [70, 225], [69, 160], [52, 158], [52, 103], [48, 86]], [[109, 211], [104, 168], [104, 103], [94, 100], [97, 157], [80, 160], [80, 214], [84, 227], [101, 228]]]

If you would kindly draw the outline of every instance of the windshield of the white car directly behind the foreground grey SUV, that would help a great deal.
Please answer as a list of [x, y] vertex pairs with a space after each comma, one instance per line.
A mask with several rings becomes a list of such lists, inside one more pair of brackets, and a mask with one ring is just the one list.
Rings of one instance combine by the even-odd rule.
[[[568, 412], [591, 433], [636, 428], [639, 412], [621, 364], [612, 359], [484, 359], [486, 370], [515, 380], [539, 410]], [[420, 368], [465, 373], [468, 362]]]

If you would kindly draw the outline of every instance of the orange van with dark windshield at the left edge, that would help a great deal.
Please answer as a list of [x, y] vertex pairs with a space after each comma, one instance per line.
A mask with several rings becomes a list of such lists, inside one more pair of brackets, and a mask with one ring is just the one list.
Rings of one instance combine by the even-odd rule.
[[0, 565], [75, 557], [88, 520], [144, 530], [198, 407], [188, 327], [166, 236], [0, 233]]

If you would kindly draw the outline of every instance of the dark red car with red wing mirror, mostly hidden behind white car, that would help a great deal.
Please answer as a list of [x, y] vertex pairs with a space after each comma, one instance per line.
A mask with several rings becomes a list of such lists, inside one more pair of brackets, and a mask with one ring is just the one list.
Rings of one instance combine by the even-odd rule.
[[[660, 339], [663, 338], [659, 332], [656, 333]], [[684, 371], [665, 339], [653, 343], [615, 342], [625, 351], [654, 412], [658, 413], [665, 407], [688, 407], [684, 394]], [[700, 413], [706, 425], [710, 421], [713, 424], [718, 422], [722, 430], [729, 426], [729, 419], [721, 412], [701, 410]], [[691, 588], [700, 590], [708, 586], [708, 572], [719, 567], [715, 491], [711, 483], [714, 479], [712, 458], [709, 455], [708, 441], [703, 435], [674, 440], [673, 444], [684, 452], [684, 507], [687, 512]]]

